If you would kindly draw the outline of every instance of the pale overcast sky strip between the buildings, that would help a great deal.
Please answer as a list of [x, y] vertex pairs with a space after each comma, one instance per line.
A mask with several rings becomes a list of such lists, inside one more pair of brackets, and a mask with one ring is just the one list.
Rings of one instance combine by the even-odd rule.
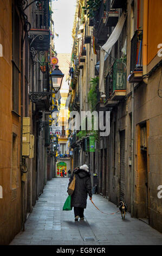
[[55, 50], [57, 53], [72, 52], [72, 29], [75, 16], [76, 0], [53, 0], [53, 20], [55, 32]]

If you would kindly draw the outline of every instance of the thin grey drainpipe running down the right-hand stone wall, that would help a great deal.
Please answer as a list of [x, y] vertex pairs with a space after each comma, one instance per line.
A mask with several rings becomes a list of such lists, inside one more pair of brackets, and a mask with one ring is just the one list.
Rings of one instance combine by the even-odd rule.
[[134, 83], [132, 84], [132, 138], [131, 138], [131, 217], [133, 217], [133, 146], [134, 146]]

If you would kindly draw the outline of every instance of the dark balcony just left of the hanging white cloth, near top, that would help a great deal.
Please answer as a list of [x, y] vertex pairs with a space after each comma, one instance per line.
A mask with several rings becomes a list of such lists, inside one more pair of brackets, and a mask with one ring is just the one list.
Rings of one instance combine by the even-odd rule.
[[96, 12], [95, 17], [95, 47], [96, 50], [100, 50], [99, 46], [105, 44], [108, 35], [108, 27], [105, 26], [106, 11], [104, 10], [105, 1], [101, 2], [99, 11]]

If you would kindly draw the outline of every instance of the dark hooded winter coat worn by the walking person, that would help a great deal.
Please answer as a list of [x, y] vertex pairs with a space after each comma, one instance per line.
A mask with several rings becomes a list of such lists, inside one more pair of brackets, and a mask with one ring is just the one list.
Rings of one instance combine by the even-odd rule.
[[[87, 196], [92, 197], [92, 184], [90, 172], [85, 169], [74, 170], [69, 185], [75, 175], [75, 190], [72, 194], [71, 206], [86, 208]], [[68, 185], [68, 186], [69, 186]]]

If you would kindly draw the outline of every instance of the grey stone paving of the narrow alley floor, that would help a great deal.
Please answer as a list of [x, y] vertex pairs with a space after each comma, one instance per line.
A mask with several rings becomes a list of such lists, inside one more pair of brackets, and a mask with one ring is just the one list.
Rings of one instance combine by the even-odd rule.
[[[87, 199], [84, 221], [74, 221], [72, 211], [62, 211], [68, 178], [48, 181], [25, 223], [25, 231], [10, 245], [162, 245], [162, 234], [127, 213], [101, 214]], [[116, 212], [116, 205], [99, 194], [93, 202], [103, 212]]]

